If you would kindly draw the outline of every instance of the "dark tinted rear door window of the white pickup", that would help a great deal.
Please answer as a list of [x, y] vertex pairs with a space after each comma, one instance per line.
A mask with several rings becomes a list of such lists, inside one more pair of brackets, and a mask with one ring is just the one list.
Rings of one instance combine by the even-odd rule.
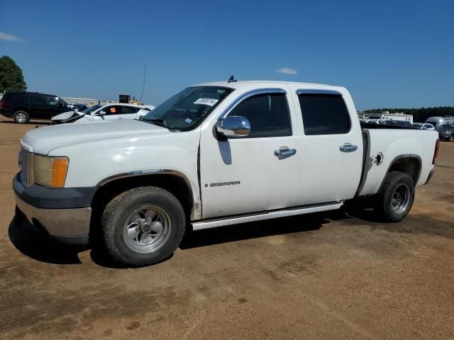
[[338, 135], [350, 131], [350, 115], [341, 95], [299, 94], [305, 135]]

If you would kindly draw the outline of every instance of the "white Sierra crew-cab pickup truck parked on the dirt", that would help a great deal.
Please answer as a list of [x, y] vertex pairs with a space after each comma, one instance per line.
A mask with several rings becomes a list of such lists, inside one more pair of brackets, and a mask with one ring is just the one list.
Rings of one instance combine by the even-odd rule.
[[50, 126], [21, 145], [17, 214], [69, 244], [100, 232], [116, 261], [144, 266], [171, 256], [187, 226], [334, 210], [355, 196], [400, 221], [431, 179], [438, 134], [362, 127], [343, 87], [219, 81], [143, 121]]

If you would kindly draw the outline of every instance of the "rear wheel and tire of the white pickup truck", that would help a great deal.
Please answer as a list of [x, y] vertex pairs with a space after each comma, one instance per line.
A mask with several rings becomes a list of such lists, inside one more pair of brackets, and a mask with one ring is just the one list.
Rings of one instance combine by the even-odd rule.
[[[399, 198], [402, 198], [402, 205], [399, 205]], [[374, 210], [384, 222], [400, 222], [409, 214], [413, 202], [413, 179], [404, 172], [392, 171], [384, 179], [382, 188], [375, 197]]]

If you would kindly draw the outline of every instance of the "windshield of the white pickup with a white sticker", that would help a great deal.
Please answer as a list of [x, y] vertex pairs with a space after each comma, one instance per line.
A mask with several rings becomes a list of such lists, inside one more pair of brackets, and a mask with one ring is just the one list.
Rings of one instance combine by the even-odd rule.
[[173, 131], [192, 130], [232, 91], [221, 86], [188, 87], [147, 113], [143, 121]]

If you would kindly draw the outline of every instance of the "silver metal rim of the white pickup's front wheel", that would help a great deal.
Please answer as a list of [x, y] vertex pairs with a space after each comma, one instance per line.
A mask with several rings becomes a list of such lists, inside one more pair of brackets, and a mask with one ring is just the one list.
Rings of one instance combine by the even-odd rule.
[[158, 205], [143, 205], [126, 219], [123, 240], [136, 253], [148, 254], [166, 244], [171, 230], [171, 218], [165, 209]]

